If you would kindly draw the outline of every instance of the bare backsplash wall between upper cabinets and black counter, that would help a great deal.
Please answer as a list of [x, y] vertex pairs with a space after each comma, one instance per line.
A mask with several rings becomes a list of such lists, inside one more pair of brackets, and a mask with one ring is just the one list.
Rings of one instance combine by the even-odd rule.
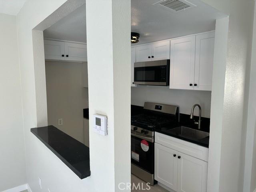
[[[145, 101], [177, 105], [184, 114], [190, 114], [192, 106], [198, 103], [202, 107], [202, 116], [210, 118], [210, 91], [176, 90], [164, 86], [132, 87], [131, 104], [143, 106]], [[195, 108], [195, 115], [198, 115], [198, 108]]]

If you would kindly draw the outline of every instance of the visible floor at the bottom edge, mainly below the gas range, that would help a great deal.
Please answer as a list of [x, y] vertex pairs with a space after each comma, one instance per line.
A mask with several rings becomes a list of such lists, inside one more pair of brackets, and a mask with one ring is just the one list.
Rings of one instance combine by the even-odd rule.
[[[136, 189], [131, 190], [132, 192], [168, 192], [168, 190], [162, 188], [158, 184], [155, 184], [154, 186], [150, 186], [150, 190], [145, 190], [145, 188], [147, 188], [146, 182], [142, 181], [140, 178], [134, 176], [133, 174], [131, 175], [131, 182], [132, 182], [132, 184], [134, 183], [135, 186], [138, 186], [138, 183], [141, 183], [141, 185], [140, 185], [141, 187], [142, 187], [142, 183], [143, 183], [143, 189], [137, 188], [137, 190]], [[24, 190], [21, 192], [28, 192], [28, 190]]]

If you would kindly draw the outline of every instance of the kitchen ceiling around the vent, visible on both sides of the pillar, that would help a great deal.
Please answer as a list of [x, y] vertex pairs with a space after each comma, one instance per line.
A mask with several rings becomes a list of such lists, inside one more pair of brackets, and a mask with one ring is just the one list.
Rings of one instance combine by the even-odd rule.
[[[172, 12], [153, 5], [159, 0], [131, 0], [131, 29], [140, 33], [140, 42], [206, 32], [215, 29], [215, 19], [224, 16], [200, 0], [189, 0], [196, 7]], [[45, 38], [86, 42], [85, 5], [44, 31]]]

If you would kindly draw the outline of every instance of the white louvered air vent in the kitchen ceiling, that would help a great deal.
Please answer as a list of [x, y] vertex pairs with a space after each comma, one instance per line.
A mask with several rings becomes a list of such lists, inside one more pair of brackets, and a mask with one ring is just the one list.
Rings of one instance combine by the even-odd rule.
[[174, 12], [179, 12], [196, 6], [186, 0], [162, 0], [156, 4], [164, 6], [165, 8], [168, 8]]

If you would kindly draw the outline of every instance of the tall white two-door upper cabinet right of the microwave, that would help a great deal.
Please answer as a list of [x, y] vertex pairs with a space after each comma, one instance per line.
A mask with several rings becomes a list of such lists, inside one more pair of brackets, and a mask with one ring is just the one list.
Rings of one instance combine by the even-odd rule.
[[171, 40], [171, 89], [212, 90], [214, 34], [207, 32]]

